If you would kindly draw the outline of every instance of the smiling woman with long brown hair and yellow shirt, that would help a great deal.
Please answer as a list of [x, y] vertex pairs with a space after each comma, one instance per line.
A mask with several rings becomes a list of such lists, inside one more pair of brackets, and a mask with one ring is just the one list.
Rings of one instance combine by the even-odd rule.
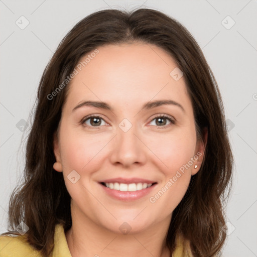
[[217, 83], [180, 23], [151, 9], [89, 15], [37, 100], [5, 233], [18, 236], [1, 237], [1, 256], [220, 253], [233, 158]]

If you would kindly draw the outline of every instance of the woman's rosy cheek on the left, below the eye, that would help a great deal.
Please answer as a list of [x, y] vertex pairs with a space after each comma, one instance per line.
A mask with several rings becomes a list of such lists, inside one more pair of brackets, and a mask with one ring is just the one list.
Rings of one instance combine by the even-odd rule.
[[[79, 132], [75, 128], [65, 127], [64, 124], [60, 131], [60, 141], [66, 188], [76, 202], [88, 201], [84, 187], [89, 186], [92, 173], [101, 167], [100, 154], [106, 142], [101, 137], [85, 136], [85, 133]], [[72, 177], [75, 177], [74, 184], [71, 180]], [[81, 198], [81, 195], [84, 197]]]

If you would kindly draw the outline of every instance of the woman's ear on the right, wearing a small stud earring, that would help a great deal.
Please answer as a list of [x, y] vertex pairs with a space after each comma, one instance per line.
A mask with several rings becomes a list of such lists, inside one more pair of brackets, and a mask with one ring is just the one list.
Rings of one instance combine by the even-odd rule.
[[[205, 147], [207, 144], [207, 138], [208, 138], [208, 129], [207, 127], [203, 128], [203, 136], [204, 136], [204, 142], [200, 139], [199, 142], [197, 142], [197, 146], [196, 146], [196, 152], [194, 155], [194, 160], [193, 161], [193, 165], [192, 165], [192, 171], [191, 171], [191, 175], [195, 175], [201, 168], [202, 162], [203, 162], [203, 157], [205, 154]], [[197, 165], [197, 167], [195, 168], [195, 165]]]

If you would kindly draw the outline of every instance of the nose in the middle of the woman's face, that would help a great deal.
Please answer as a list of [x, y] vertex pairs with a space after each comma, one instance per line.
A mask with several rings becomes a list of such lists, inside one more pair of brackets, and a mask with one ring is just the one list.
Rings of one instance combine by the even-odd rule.
[[147, 147], [139, 134], [136, 126], [132, 126], [127, 132], [118, 127], [117, 135], [112, 142], [112, 152], [109, 155], [113, 165], [128, 168], [135, 164], [141, 166], [146, 162]]

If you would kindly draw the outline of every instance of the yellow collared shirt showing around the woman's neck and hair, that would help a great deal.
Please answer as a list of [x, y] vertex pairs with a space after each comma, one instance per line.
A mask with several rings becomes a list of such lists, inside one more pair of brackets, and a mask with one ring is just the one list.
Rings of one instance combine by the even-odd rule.
[[[172, 257], [191, 257], [189, 242], [178, 239], [178, 246]], [[25, 241], [24, 236], [0, 236], [0, 257], [42, 257]], [[72, 257], [67, 244], [64, 228], [61, 224], [55, 227], [53, 257]]]

